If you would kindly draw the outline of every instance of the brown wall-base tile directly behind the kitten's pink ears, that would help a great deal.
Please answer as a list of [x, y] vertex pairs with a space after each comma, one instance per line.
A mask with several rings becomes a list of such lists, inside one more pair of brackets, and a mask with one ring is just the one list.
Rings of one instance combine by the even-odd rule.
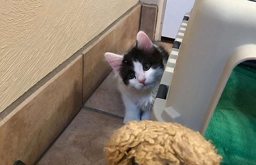
[[83, 102], [97, 88], [111, 70], [104, 59], [105, 52], [121, 53], [127, 51], [136, 41], [141, 5], [118, 20], [111, 28], [92, 43], [84, 54]]

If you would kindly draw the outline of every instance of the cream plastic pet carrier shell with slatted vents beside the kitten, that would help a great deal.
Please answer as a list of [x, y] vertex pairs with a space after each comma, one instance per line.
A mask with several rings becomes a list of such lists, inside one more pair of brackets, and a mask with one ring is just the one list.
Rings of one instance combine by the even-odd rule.
[[196, 0], [175, 38], [152, 120], [205, 134], [233, 68], [246, 60], [256, 60], [256, 1]]

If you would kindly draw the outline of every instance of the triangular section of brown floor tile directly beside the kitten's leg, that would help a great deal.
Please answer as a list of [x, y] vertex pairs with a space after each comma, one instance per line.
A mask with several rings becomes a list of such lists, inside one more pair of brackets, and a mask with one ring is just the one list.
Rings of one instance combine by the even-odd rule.
[[114, 71], [109, 73], [86, 101], [85, 106], [124, 117], [125, 108], [117, 88], [117, 79], [114, 75]]

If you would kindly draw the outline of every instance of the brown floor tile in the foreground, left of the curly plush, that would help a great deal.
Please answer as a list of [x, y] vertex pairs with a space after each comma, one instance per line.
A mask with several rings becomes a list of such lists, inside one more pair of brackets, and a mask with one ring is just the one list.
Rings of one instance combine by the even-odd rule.
[[122, 120], [82, 109], [35, 165], [106, 165], [104, 147]]

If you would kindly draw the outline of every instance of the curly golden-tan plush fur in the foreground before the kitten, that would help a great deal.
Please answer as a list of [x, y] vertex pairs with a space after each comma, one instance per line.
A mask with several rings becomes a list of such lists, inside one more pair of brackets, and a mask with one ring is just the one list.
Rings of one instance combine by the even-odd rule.
[[222, 160], [199, 132], [147, 120], [116, 130], [105, 151], [108, 165], [219, 165]]

